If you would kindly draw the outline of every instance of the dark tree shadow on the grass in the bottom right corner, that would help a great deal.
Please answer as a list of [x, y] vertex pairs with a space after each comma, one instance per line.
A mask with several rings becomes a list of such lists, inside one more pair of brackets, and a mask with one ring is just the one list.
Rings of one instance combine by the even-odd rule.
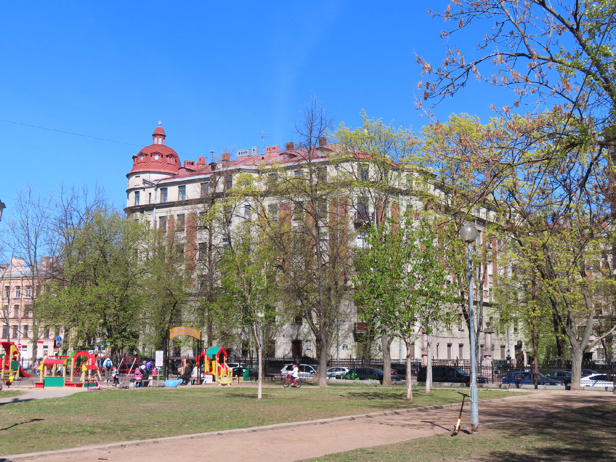
[[[540, 440], [538, 444], [520, 444], [516, 450], [492, 451], [481, 460], [510, 462], [541, 461], [612, 461], [616, 460], [614, 428], [616, 405], [578, 408], [553, 413], [544, 418], [506, 423], [503, 433], [520, 442]], [[586, 424], [584, 424], [586, 423]]]

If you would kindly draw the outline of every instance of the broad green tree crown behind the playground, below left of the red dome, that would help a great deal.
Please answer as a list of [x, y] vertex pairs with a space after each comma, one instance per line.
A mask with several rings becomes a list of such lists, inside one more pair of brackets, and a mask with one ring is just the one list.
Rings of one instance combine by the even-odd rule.
[[145, 299], [137, 257], [144, 226], [102, 207], [88, 214], [60, 253], [60, 271], [41, 294], [41, 318], [67, 326], [70, 347], [104, 338], [117, 355], [136, 347]]

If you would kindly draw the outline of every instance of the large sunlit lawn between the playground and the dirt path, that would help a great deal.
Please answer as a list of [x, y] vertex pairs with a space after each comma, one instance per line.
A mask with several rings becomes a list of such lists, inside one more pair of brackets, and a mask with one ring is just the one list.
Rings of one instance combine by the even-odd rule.
[[[256, 386], [84, 391], [0, 405], [0, 454], [460, 402], [455, 389], [425, 395], [415, 387], [414, 392], [415, 400], [407, 402], [403, 387], [274, 386], [264, 387], [261, 401]], [[513, 394], [480, 390], [479, 398]]]

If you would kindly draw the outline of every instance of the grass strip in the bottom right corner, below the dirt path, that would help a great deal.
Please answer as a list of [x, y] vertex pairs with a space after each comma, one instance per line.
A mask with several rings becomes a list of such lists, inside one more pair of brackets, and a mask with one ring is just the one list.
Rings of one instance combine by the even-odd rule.
[[318, 462], [574, 462], [616, 460], [616, 403], [321, 456]]

